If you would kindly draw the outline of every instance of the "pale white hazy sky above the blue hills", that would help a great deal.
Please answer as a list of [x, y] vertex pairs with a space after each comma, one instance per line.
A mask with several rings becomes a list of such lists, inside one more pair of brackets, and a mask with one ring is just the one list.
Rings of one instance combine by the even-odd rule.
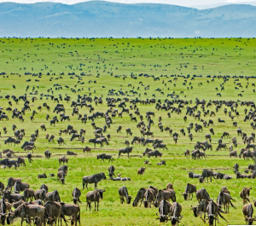
[[[219, 3], [249, 3], [255, 2], [256, 0], [108, 0], [108, 2], [115, 3], [167, 3], [167, 4], [175, 4], [181, 6], [201, 6], [201, 5], [213, 5]], [[0, 0], [0, 3], [3, 2], [15, 2], [15, 3], [38, 3], [38, 2], [53, 2], [53, 3], [80, 3], [86, 2], [86, 0]]]

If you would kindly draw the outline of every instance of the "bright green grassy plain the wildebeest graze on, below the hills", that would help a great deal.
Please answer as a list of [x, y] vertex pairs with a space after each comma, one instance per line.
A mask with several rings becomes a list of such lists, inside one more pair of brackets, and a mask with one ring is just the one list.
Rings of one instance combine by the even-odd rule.
[[[132, 207], [132, 205], [121, 205], [119, 202], [119, 187], [125, 185], [128, 188], [129, 194], [134, 198], [139, 188], [148, 188], [152, 185], [157, 188], [166, 188], [167, 183], [172, 183], [176, 191], [177, 201], [183, 207], [183, 219], [180, 225], [204, 225], [200, 218], [195, 218], [190, 206], [197, 205], [197, 200], [183, 200], [181, 195], [184, 192], [187, 183], [196, 185], [197, 189], [206, 188], [211, 198], [217, 199], [220, 188], [226, 186], [230, 190], [232, 198], [236, 201], [233, 204], [236, 209], [230, 207], [230, 213], [224, 214], [229, 224], [245, 223], [241, 212], [243, 206], [242, 200], [239, 196], [241, 188], [244, 186], [252, 186], [253, 189], [250, 194], [250, 199], [256, 199], [256, 183], [255, 179], [237, 179], [233, 172], [233, 166], [238, 163], [240, 171], [247, 169], [248, 164], [253, 164], [253, 160], [245, 161], [239, 158], [230, 158], [229, 151], [216, 151], [218, 139], [224, 131], [230, 133], [230, 136], [236, 136], [238, 146], [235, 148], [237, 153], [240, 153], [241, 148], [245, 148], [241, 136], [237, 136], [236, 127], [232, 124], [230, 117], [224, 114], [224, 107], [216, 113], [215, 117], [203, 116], [201, 106], [198, 110], [201, 111], [201, 119], [208, 121], [212, 119], [214, 125], [212, 128], [215, 132], [212, 136], [212, 150], [207, 150], [207, 159], [194, 160], [183, 155], [186, 149], [194, 150], [195, 142], [205, 141], [205, 135], [209, 133], [209, 127], [204, 127], [203, 132], [195, 132], [191, 130], [194, 140], [190, 142], [187, 132], [187, 126], [190, 122], [202, 125], [198, 119], [192, 116], [187, 116], [187, 122], [184, 122], [183, 116], [186, 113], [185, 107], [181, 114], [171, 113], [171, 118], [167, 117], [168, 112], [155, 109], [155, 104], [143, 105], [137, 103], [137, 107], [143, 121], [148, 125], [145, 118], [146, 112], [153, 111], [155, 113], [154, 125], [151, 126], [151, 131], [154, 132], [154, 139], [162, 139], [168, 150], [163, 152], [162, 158], [150, 158], [152, 165], [146, 165], [146, 171], [143, 176], [137, 175], [137, 170], [144, 166], [144, 160], [148, 157], [143, 157], [143, 151], [146, 147], [142, 144], [132, 145], [133, 151], [131, 158], [127, 155], [122, 155], [118, 158], [119, 148], [125, 148], [125, 140], [131, 142], [133, 136], [141, 136], [140, 129], [137, 129], [137, 123], [131, 122], [128, 114], [123, 114], [123, 118], [116, 117], [113, 119], [113, 125], [108, 128], [105, 136], [109, 133], [111, 135], [109, 145], [104, 145], [103, 148], [96, 146], [94, 148], [89, 139], [94, 137], [94, 129], [90, 125], [91, 121], [87, 120], [84, 125], [78, 120], [78, 116], [72, 116], [73, 107], [71, 101], [60, 101], [66, 109], [66, 115], [69, 115], [70, 122], [56, 123], [55, 127], [49, 125], [49, 121], [45, 119], [46, 114], [49, 114], [50, 119], [56, 115], [53, 109], [57, 102], [51, 101], [47, 96], [63, 98], [70, 96], [72, 101], [77, 101], [78, 95], [101, 97], [103, 103], [95, 104], [92, 101], [92, 107], [95, 112], [106, 113], [109, 107], [107, 106], [106, 98], [120, 98], [124, 97], [129, 100], [138, 98], [139, 100], [146, 100], [155, 98], [161, 103], [166, 100], [173, 100], [168, 94], [175, 92], [177, 99], [192, 101], [189, 107], [195, 106], [195, 99], [204, 99], [205, 101], [225, 100], [238, 101], [236, 110], [240, 116], [235, 117], [234, 121], [241, 127], [243, 132], [250, 135], [253, 129], [250, 126], [250, 121], [244, 122], [244, 108], [247, 110], [250, 107], [245, 107], [240, 104], [240, 101], [254, 101], [255, 93], [252, 84], [256, 83], [254, 78], [246, 78], [255, 76], [255, 49], [256, 41], [253, 38], [222, 38], [222, 39], [167, 39], [167, 38], [152, 38], [152, 39], [131, 39], [131, 38], [0, 38], [0, 72], [6, 74], [0, 77], [0, 106], [3, 111], [9, 115], [9, 120], [4, 119], [0, 121], [0, 130], [2, 137], [0, 138], [1, 150], [10, 148], [15, 151], [16, 155], [26, 157], [26, 152], [20, 148], [21, 145], [9, 147], [4, 144], [4, 140], [12, 136], [14, 132], [11, 129], [12, 125], [17, 125], [18, 129], [24, 128], [26, 136], [24, 141], [30, 140], [30, 135], [35, 130], [39, 130], [39, 137], [36, 141], [37, 148], [34, 150], [33, 161], [28, 163], [26, 160], [26, 167], [19, 167], [15, 171], [11, 169], [1, 169], [0, 181], [5, 185], [9, 177], [20, 177], [22, 182], [30, 184], [33, 189], [40, 188], [42, 183], [49, 186], [49, 190], [57, 189], [61, 196], [61, 201], [72, 203], [73, 188], [78, 187], [82, 189], [82, 177], [92, 175], [99, 172], [108, 174], [108, 166], [114, 165], [116, 174], [121, 173], [122, 177], [131, 177], [131, 182], [113, 182], [111, 180], [104, 180], [98, 183], [98, 188], [105, 188], [106, 192], [103, 195], [103, 200], [100, 202], [100, 211], [86, 211], [85, 195], [88, 190], [82, 191], [81, 201], [81, 224], [82, 225], [160, 225], [159, 221], [155, 219], [158, 209], [152, 206], [151, 209], [141, 207]], [[41, 73], [41, 74], [39, 74]], [[146, 74], [146, 76], [145, 76]], [[195, 77], [197, 76], [197, 77]], [[201, 78], [199, 77], [201, 76]], [[211, 76], [211, 78], [209, 78]], [[215, 78], [212, 80], [213, 76]], [[228, 79], [224, 81], [218, 76], [227, 76]], [[233, 78], [233, 77], [243, 78]], [[160, 78], [155, 80], [154, 78]], [[176, 78], [176, 79], [175, 79]], [[31, 79], [30, 82], [26, 80]], [[239, 81], [235, 81], [239, 79]], [[38, 81], [36, 81], [38, 80]], [[185, 81], [186, 80], [186, 81]], [[255, 81], [254, 81], [255, 80]], [[92, 82], [90, 82], [92, 81]], [[96, 83], [94, 83], [96, 81]], [[84, 83], [84, 84], [81, 84]], [[183, 84], [185, 83], [185, 84]], [[236, 85], [241, 83], [241, 86]], [[13, 88], [15, 84], [15, 89]], [[61, 88], [56, 89], [60, 84]], [[131, 85], [129, 85], [131, 84]], [[29, 89], [26, 91], [26, 86]], [[149, 85], [149, 90], [144, 88]], [[220, 91], [221, 85], [224, 90]], [[193, 89], [191, 89], [193, 86]], [[34, 87], [34, 90], [33, 90]], [[235, 87], [238, 89], [236, 90]], [[218, 88], [218, 90], [216, 89]], [[183, 91], [183, 94], [180, 92]], [[162, 92], [162, 93], [161, 93]], [[36, 110], [38, 114], [35, 119], [31, 121], [30, 116], [32, 112], [26, 111], [23, 116], [25, 121], [21, 122], [19, 119], [12, 119], [12, 113], [5, 109], [9, 107], [9, 101], [12, 101], [12, 108], [17, 107], [18, 110], [23, 107], [23, 101], [20, 100], [16, 105], [15, 101], [5, 99], [5, 96], [22, 96], [26, 93], [27, 100], [32, 105], [32, 110]], [[121, 95], [123, 93], [123, 95]], [[221, 93], [221, 97], [217, 96]], [[111, 95], [110, 95], [111, 94]], [[238, 96], [241, 94], [242, 96]], [[154, 97], [154, 96], [155, 97]], [[36, 96], [37, 100], [32, 102], [32, 96]], [[42, 111], [38, 111], [38, 106], [43, 106], [46, 102], [50, 111], [43, 107]], [[116, 103], [118, 105], [119, 103]], [[130, 106], [130, 102], [126, 102], [126, 107]], [[173, 105], [177, 107], [177, 104]], [[121, 108], [117, 107], [119, 112]], [[129, 107], [130, 108], [130, 107]], [[230, 111], [230, 107], [226, 107]], [[206, 107], [206, 110], [215, 110], [215, 106]], [[130, 110], [134, 114], [135, 110]], [[197, 111], [196, 111], [197, 112]], [[80, 108], [79, 113], [84, 115], [91, 115], [89, 109], [86, 107]], [[235, 113], [232, 113], [235, 115]], [[180, 129], [184, 129], [185, 136], [179, 136], [177, 144], [174, 143], [172, 136], [168, 132], [161, 132], [158, 128], [158, 119], [162, 117], [162, 125], [169, 126], [173, 132], [180, 134]], [[60, 119], [59, 116], [57, 116]], [[225, 123], [218, 123], [218, 118], [224, 119]], [[137, 121], [139, 121], [137, 116]], [[96, 126], [102, 127], [105, 125], [104, 119], [95, 119]], [[40, 130], [40, 125], [44, 124], [47, 131]], [[67, 145], [64, 147], [58, 145], [56, 140], [59, 138], [59, 130], [67, 128], [67, 125], [73, 125], [76, 130], [85, 129], [85, 142], [79, 140], [70, 142], [69, 135], [61, 135]], [[116, 133], [119, 125], [122, 126], [122, 131]], [[3, 127], [7, 127], [7, 134], [3, 133]], [[131, 128], [132, 136], [126, 136], [125, 129]], [[54, 135], [54, 142], [48, 142], [45, 135]], [[231, 138], [224, 139], [224, 143], [229, 147]], [[82, 148], [89, 146], [93, 148], [91, 156], [84, 156]], [[153, 148], [151, 145], [148, 148]], [[45, 159], [44, 151], [49, 149], [52, 153], [52, 158]], [[57, 173], [59, 163], [58, 158], [67, 153], [67, 150], [76, 152], [78, 156], [67, 156], [68, 173], [66, 184], [61, 185], [56, 177], [48, 177], [46, 179], [38, 179], [39, 173]], [[112, 154], [113, 163], [101, 162], [96, 159], [97, 154]], [[166, 165], [156, 165], [160, 159], [166, 160]], [[190, 179], [187, 171], [195, 171], [201, 173], [202, 169], [212, 169], [227, 173], [234, 177], [229, 181], [214, 180], [212, 183], [199, 183], [198, 179]], [[109, 178], [107, 176], [107, 178]], [[89, 190], [93, 190], [94, 185], [89, 185]], [[223, 219], [219, 220], [218, 225], [227, 225]], [[166, 224], [170, 224], [166, 223]], [[16, 221], [15, 225], [20, 225], [20, 221]], [[164, 224], [165, 225], [165, 224]]]

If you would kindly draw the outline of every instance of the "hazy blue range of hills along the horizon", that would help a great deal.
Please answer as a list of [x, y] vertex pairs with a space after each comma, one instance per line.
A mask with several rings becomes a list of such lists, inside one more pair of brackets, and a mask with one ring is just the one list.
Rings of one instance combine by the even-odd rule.
[[0, 3], [0, 37], [256, 37], [256, 7], [91, 1]]

